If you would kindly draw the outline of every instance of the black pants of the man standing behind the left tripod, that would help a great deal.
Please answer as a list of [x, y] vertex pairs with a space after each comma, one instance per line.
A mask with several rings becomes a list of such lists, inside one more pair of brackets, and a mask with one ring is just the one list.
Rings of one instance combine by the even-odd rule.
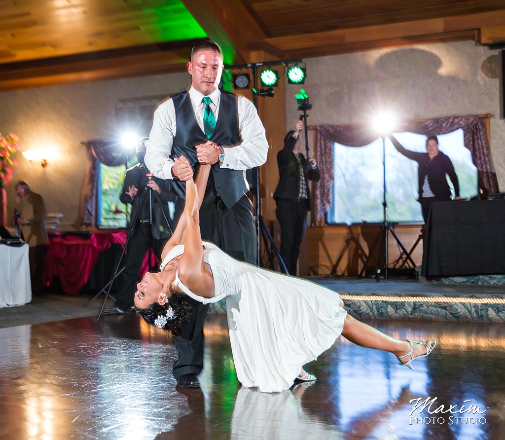
[[153, 251], [160, 258], [168, 239], [157, 240], [151, 234], [151, 225], [149, 223], [137, 222], [128, 241], [126, 255], [123, 257], [125, 259], [125, 270], [120, 275], [119, 292], [116, 296], [116, 307], [121, 310], [128, 311], [133, 306], [133, 296], [141, 275], [139, 273], [140, 266], [144, 261], [149, 244], [153, 246]]

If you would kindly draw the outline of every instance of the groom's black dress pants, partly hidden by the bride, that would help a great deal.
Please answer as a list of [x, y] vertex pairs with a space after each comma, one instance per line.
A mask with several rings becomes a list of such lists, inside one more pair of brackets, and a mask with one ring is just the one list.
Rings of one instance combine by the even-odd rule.
[[[176, 202], [177, 220], [184, 210], [184, 203], [182, 199]], [[256, 229], [252, 204], [246, 195], [230, 209], [218, 196], [207, 208], [202, 207], [199, 214], [203, 240], [212, 241], [237, 260], [256, 263]], [[209, 304], [196, 304], [195, 301], [190, 321], [182, 324], [180, 336], [174, 336], [178, 352], [178, 359], [173, 366], [176, 379], [183, 374], [199, 374], [204, 366], [204, 322], [208, 310]]]

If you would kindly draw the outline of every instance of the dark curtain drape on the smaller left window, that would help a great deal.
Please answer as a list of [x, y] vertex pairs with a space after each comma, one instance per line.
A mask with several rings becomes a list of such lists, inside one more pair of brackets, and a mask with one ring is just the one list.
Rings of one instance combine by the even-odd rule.
[[128, 160], [127, 152], [117, 142], [90, 140], [81, 144], [86, 149], [86, 163], [75, 221], [76, 229], [96, 227], [97, 163], [115, 167], [124, 165]]

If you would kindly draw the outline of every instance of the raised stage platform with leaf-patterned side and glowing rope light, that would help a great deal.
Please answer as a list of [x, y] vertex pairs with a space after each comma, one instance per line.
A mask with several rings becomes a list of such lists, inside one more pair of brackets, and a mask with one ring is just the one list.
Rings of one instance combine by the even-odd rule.
[[[505, 285], [476, 279], [388, 279], [311, 276], [308, 280], [338, 292], [347, 312], [357, 319], [397, 319], [446, 322], [505, 322]], [[481, 283], [479, 283], [481, 282]], [[224, 301], [209, 313], [225, 314]]]

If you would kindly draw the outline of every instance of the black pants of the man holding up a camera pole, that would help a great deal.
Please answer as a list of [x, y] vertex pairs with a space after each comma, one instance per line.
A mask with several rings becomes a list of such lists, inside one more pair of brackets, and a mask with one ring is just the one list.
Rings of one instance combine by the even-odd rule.
[[[275, 216], [281, 227], [280, 255], [289, 275], [296, 275], [300, 243], [307, 227], [307, 200], [277, 200]], [[281, 267], [281, 271], [284, 272]]]

